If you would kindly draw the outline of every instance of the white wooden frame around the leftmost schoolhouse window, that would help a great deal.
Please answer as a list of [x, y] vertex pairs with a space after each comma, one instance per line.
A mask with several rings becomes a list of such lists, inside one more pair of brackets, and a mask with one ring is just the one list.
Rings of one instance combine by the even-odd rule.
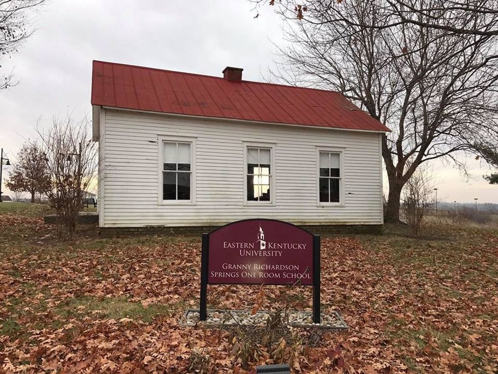
[[[158, 162], [158, 205], [195, 205], [196, 204], [196, 138], [186, 136], [158, 136], [159, 162]], [[163, 200], [163, 152], [165, 142], [190, 143], [190, 200]]]

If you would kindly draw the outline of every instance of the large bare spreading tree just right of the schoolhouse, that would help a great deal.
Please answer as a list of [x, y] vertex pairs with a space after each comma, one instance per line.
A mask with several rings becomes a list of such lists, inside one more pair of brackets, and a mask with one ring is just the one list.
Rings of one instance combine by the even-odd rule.
[[[339, 91], [392, 129], [382, 142], [389, 180], [386, 221], [399, 221], [401, 190], [424, 162], [442, 159], [465, 171], [464, 153], [472, 153], [496, 165], [498, 37], [390, 25], [379, 1], [310, 3], [300, 21], [297, 7], [280, 8], [288, 20], [288, 44], [279, 49], [283, 68], [275, 75]], [[439, 3], [417, 4], [430, 12]], [[433, 12], [433, 22], [446, 22]], [[486, 21], [474, 17], [476, 27]]]

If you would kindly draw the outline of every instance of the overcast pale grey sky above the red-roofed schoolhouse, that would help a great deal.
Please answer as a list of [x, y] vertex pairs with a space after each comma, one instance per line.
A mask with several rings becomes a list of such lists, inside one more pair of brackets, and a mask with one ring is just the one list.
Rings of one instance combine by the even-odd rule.
[[[33, 16], [35, 35], [2, 61], [0, 74], [12, 70], [19, 84], [0, 91], [0, 146], [15, 161], [24, 138], [36, 137], [38, 120], [89, 115], [92, 60], [215, 76], [236, 66], [244, 79], [264, 81], [276, 59], [272, 43], [282, 43], [281, 21], [271, 9], [254, 19], [252, 7], [245, 0], [51, 0]], [[498, 186], [482, 179], [488, 168], [472, 157], [469, 165], [475, 179], [432, 166], [439, 199], [498, 203]]]

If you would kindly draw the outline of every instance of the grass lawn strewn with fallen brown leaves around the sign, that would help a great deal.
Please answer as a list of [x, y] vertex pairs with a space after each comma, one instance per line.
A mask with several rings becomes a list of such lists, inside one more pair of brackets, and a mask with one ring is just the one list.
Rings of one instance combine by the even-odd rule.
[[[43, 223], [45, 208], [21, 205], [0, 204], [0, 372], [193, 372], [199, 353], [211, 372], [246, 372], [230, 331], [178, 326], [198, 306], [198, 236], [100, 238], [83, 227], [71, 242]], [[498, 370], [498, 231], [403, 230], [322, 237], [322, 309], [350, 329], [319, 333], [294, 371]], [[258, 292], [209, 286], [208, 304], [251, 309]], [[265, 293], [262, 309], [310, 310], [309, 288]]]

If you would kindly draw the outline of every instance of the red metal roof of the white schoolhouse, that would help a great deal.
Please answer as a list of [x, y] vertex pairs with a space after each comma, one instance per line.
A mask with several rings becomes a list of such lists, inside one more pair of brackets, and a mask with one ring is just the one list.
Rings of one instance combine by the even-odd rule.
[[390, 131], [343, 95], [94, 61], [91, 103], [188, 116]]

